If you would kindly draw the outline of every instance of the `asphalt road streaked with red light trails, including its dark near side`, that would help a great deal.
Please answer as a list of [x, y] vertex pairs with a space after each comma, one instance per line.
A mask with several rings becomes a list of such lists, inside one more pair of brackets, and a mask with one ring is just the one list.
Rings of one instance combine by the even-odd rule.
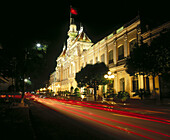
[[110, 112], [54, 99], [30, 101], [30, 116], [35, 139], [170, 139], [169, 120]]

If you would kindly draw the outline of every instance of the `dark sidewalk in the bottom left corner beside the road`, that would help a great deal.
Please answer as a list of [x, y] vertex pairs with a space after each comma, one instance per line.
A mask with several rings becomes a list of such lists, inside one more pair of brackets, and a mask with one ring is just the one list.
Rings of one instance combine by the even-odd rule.
[[1, 139], [34, 139], [28, 105], [1, 100], [0, 124]]

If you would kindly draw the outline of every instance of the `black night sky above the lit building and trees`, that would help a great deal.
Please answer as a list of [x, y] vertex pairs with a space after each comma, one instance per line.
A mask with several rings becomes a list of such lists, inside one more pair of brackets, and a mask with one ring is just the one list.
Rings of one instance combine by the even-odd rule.
[[[149, 2], [149, 3], [148, 3]], [[165, 3], [166, 2], [166, 3]], [[54, 71], [69, 30], [70, 5], [76, 8], [75, 21], [81, 22], [93, 43], [139, 14], [153, 24], [169, 18], [168, 1], [61, 0], [12, 1], [0, 5], [0, 43], [12, 53], [35, 42], [48, 44], [47, 66], [41, 78], [48, 80]]]

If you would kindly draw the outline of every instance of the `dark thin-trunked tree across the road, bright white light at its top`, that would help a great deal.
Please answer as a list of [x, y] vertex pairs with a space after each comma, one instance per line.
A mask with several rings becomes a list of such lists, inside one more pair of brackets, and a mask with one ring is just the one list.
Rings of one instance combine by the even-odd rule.
[[17, 71], [21, 77], [21, 87], [23, 94], [25, 91], [24, 79], [28, 77], [36, 77], [42, 71], [45, 63], [47, 45], [35, 44], [30, 45], [23, 49], [23, 55], [20, 55], [22, 59], [18, 60]]

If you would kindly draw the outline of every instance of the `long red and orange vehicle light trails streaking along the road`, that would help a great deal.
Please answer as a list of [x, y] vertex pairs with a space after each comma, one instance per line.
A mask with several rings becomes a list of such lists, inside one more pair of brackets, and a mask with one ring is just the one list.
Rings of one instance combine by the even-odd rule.
[[[7, 97], [8, 98], [21, 98], [21, 95], [0, 95], [0, 98], [7, 98]], [[144, 127], [134, 125], [131, 123], [122, 122], [119, 119], [113, 119], [111, 116], [106, 117], [106, 115], [104, 115], [104, 116], [99, 115], [100, 113], [97, 113], [97, 114], [91, 113], [91, 112], [89, 112], [88, 108], [107, 111], [107, 112], [113, 112], [116, 114], [121, 114], [122, 116], [128, 116], [129, 118], [136, 118], [139, 120], [147, 120], [147, 121], [152, 121], [152, 122], [156, 122], [156, 123], [162, 123], [164, 125], [170, 124], [170, 120], [168, 120], [168, 119], [154, 117], [154, 116], [150, 116], [150, 115], [139, 114], [139, 113], [133, 113], [133, 112], [128, 112], [128, 111], [122, 111], [122, 110], [118, 110], [118, 109], [116, 110], [116, 108], [121, 109], [121, 107], [117, 107], [114, 105], [102, 105], [102, 104], [87, 103], [87, 102], [74, 101], [74, 100], [56, 99], [56, 98], [43, 99], [43, 98], [39, 98], [39, 96], [37, 96], [37, 95], [26, 95], [24, 97], [27, 99], [36, 101], [37, 103], [40, 103], [41, 105], [48, 107], [50, 109], [53, 109], [55, 111], [59, 111], [59, 110], [61, 110], [61, 112], [65, 111], [65, 113], [67, 112], [72, 115], [76, 115], [81, 118], [90, 120], [92, 122], [96, 122], [98, 124], [108, 126], [110, 128], [114, 128], [117, 130], [121, 130], [123, 132], [133, 134], [134, 136], [139, 136], [141, 138], [153, 140], [155, 138], [152, 138], [152, 136], [157, 137], [157, 135], [158, 135], [158, 138], [161, 137], [161, 139], [170, 139], [170, 135], [167, 132], [162, 133], [162, 132], [158, 132], [159, 130], [155, 131], [155, 130], [144, 128]], [[73, 105], [73, 106], [68, 107], [69, 104]], [[86, 107], [83, 109], [87, 110], [87, 111], [81, 110], [82, 108], [77, 109], [77, 108], [75, 108], [74, 105], [76, 105], [76, 107], [77, 106]], [[113, 124], [110, 124], [110, 123], [113, 123]], [[154, 128], [154, 127], [152, 127], [152, 128]], [[141, 131], [142, 131], [142, 133], [141, 133]], [[146, 132], [146, 133], [144, 133], [144, 132]], [[150, 135], [150, 134], [153, 134], [153, 135]]]

